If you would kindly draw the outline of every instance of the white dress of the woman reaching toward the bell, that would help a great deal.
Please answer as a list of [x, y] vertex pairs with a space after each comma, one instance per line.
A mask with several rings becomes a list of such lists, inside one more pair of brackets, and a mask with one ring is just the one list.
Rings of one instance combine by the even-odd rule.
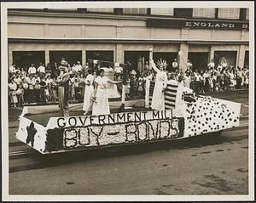
[[92, 105], [92, 115], [108, 115], [110, 114], [107, 93], [108, 78], [97, 76], [95, 82], [98, 87], [96, 90], [96, 102]]

